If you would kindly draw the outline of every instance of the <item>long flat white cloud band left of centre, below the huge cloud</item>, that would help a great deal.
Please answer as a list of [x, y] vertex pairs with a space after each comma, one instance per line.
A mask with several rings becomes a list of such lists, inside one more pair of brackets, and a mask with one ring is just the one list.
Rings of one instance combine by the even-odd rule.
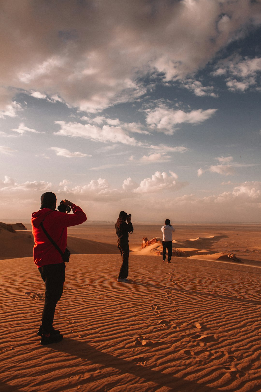
[[56, 124], [61, 126], [61, 129], [54, 134], [60, 136], [71, 136], [85, 139], [91, 139], [96, 142], [112, 142], [123, 143], [128, 145], [136, 145], [136, 140], [122, 130], [121, 127], [113, 127], [103, 125], [102, 128], [90, 124], [80, 124], [76, 122], [66, 123], [65, 121], [56, 121]]

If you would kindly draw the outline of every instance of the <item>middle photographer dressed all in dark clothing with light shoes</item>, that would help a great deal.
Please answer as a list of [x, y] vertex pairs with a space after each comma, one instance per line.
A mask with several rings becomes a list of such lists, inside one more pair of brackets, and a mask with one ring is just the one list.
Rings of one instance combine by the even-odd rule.
[[[127, 223], [126, 223], [127, 221]], [[127, 282], [129, 274], [129, 233], [133, 232], [133, 225], [131, 223], [131, 215], [125, 211], [121, 211], [119, 218], [115, 223], [116, 234], [118, 236], [118, 249], [121, 252], [122, 265], [119, 272], [117, 282]]]

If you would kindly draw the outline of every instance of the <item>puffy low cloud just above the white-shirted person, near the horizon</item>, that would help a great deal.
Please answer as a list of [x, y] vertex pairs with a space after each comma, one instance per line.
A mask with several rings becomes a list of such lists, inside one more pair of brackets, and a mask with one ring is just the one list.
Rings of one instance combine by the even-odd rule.
[[155, 193], [168, 189], [177, 190], [187, 185], [185, 182], [178, 182], [178, 176], [175, 173], [172, 171], [169, 171], [169, 173], [170, 176], [168, 176], [166, 172], [155, 172], [151, 178], [145, 178], [142, 180], [139, 187], [134, 189], [133, 192]]

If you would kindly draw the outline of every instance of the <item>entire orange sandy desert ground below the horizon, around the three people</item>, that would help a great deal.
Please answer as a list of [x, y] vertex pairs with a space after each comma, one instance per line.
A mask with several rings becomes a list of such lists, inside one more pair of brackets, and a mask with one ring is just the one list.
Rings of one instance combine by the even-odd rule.
[[[128, 283], [116, 281], [112, 222], [69, 228], [63, 341], [49, 346], [36, 335], [44, 284], [24, 225], [0, 224], [1, 391], [261, 390], [260, 225], [173, 223], [167, 264], [161, 225], [134, 221]], [[155, 240], [141, 249], [145, 237]]]

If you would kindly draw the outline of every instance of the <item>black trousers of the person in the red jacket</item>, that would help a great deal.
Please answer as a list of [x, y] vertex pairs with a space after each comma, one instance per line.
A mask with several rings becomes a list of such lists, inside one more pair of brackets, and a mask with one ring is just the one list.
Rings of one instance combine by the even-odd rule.
[[65, 263], [43, 265], [39, 268], [45, 282], [45, 303], [42, 314], [42, 331], [47, 335], [52, 330], [56, 304], [63, 294]]

